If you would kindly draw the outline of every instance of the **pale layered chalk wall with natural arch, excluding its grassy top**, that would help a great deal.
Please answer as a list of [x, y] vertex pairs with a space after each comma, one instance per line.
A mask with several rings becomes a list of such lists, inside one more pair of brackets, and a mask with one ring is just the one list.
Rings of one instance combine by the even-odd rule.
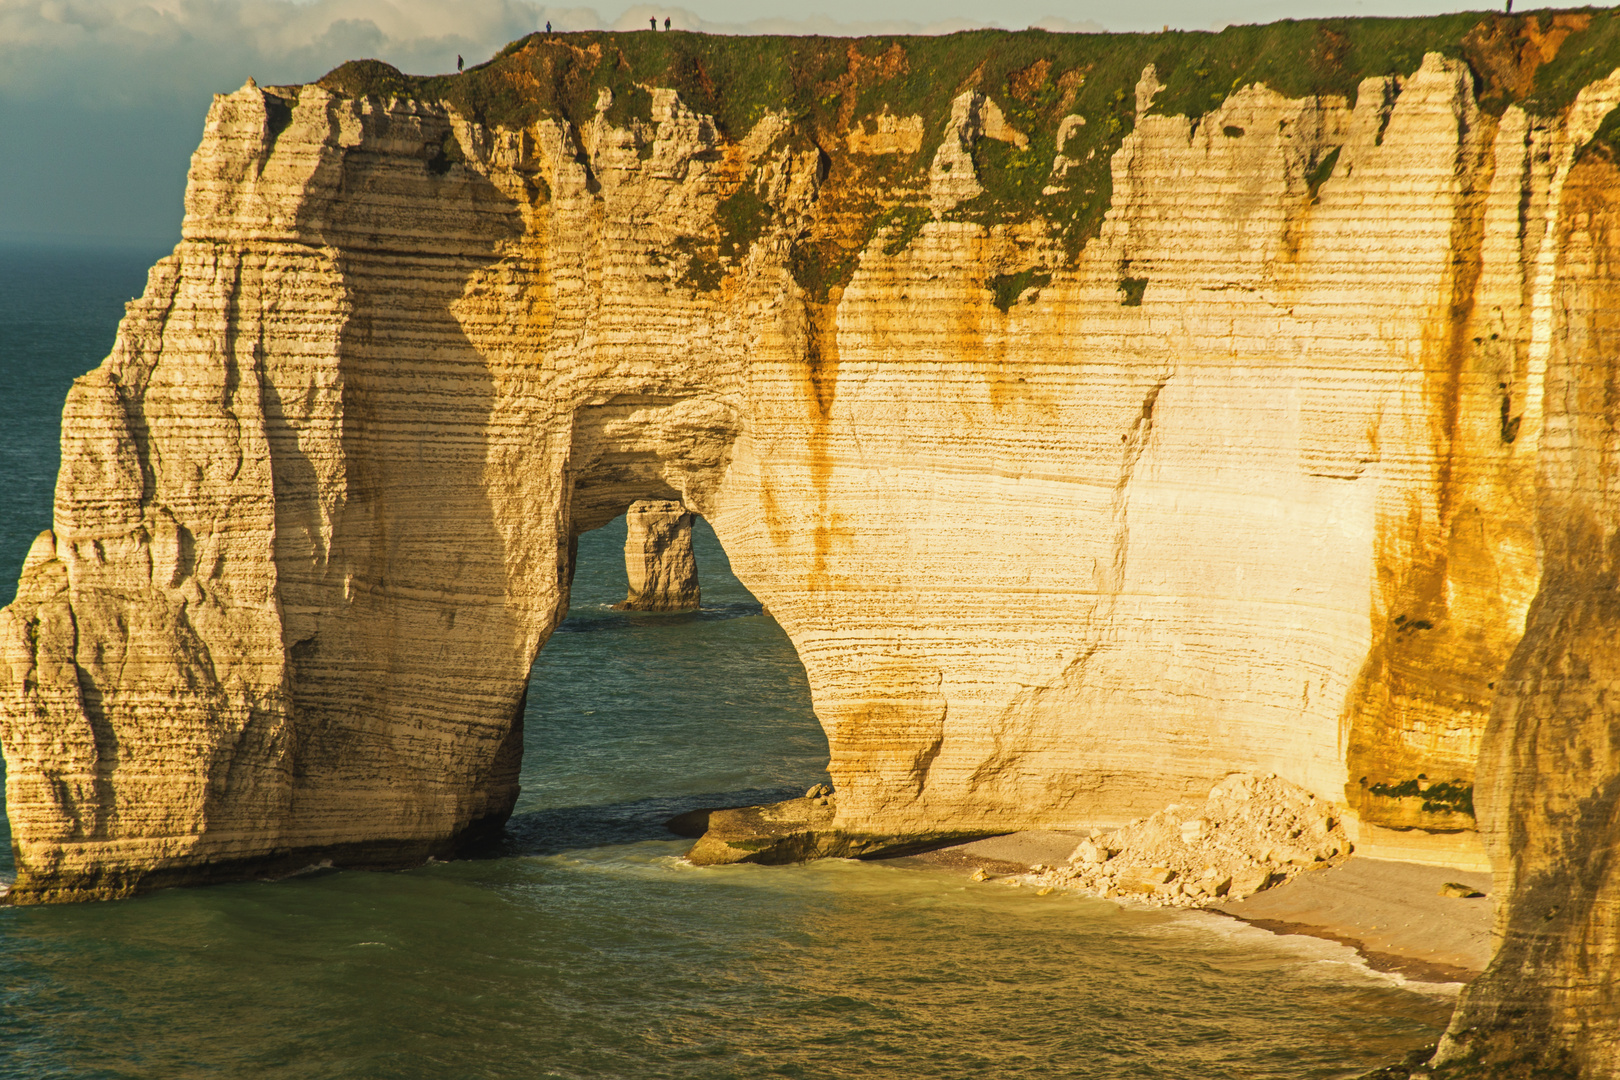
[[[319, 86], [220, 97], [186, 240], [70, 397], [57, 529], [8, 609], [19, 897], [410, 861], [494, 827], [572, 539], [637, 499], [703, 513], [794, 640], [831, 746], [834, 850], [1118, 821], [1233, 767], [1338, 798], [1346, 719], [1395, 732], [1401, 779], [1400, 717], [1435, 708], [1456, 745], [1413, 771], [1471, 772], [1474, 690], [1430, 701], [1413, 643], [1484, 695], [1534, 589], [1533, 528], [1495, 518], [1507, 606], [1469, 609], [1474, 580], [1450, 572], [1448, 619], [1419, 619], [1440, 594], [1421, 581], [1447, 572], [1392, 586], [1408, 568], [1380, 539], [1439, 542], [1450, 526], [1422, 507], [1494, 499], [1534, 452], [1536, 395], [1505, 444], [1500, 395], [1435, 397], [1452, 361], [1408, 348], [1453, 288], [1469, 94], [1434, 57], [1361, 112], [1234, 96], [1238, 126], [1309, 117], [1340, 147], [1307, 219], [1293, 181], [1264, 178], [1319, 147], [1252, 136], [1239, 154], [1209, 125], [1189, 146], [1184, 120], [1144, 117], [1102, 236], [1008, 304], [985, 283], [1047, 257], [1038, 233], [944, 217], [977, 183], [964, 147], [1022, 138], [982, 96], [953, 108], [927, 178], [941, 220], [902, 248], [876, 236], [826, 301], [787, 254], [838, 173], [778, 146], [781, 117], [727, 142], [659, 91], [645, 157], [646, 133], [606, 113], [491, 130]], [[428, 152], [449, 142], [460, 162]], [[1204, 186], [1155, 183], [1165, 170]], [[1434, 191], [1333, 210], [1395, 198], [1390, 175]], [[776, 223], [719, 282], [692, 279], [682, 253], [747, 185]], [[1191, 240], [1166, 227], [1233, 185], [1270, 209]], [[1218, 325], [1170, 340], [1157, 322], [1233, 275], [1259, 290], [1275, 253], [1244, 236], [1268, 222], [1296, 251], [1288, 319], [1327, 327], [1346, 303], [1333, 282], [1388, 220], [1409, 285], [1380, 291], [1379, 337], [1319, 335], [1307, 361], [1243, 290], [1210, 301]], [[1508, 251], [1476, 287], [1502, 279], [1521, 304]], [[1121, 257], [1155, 267], [1129, 303]], [[1264, 355], [1233, 359], [1238, 324]], [[1432, 461], [1456, 408], [1489, 427], [1447, 453], [1484, 465], [1445, 481], [1385, 463]], [[1189, 520], [1226, 542], [1189, 544]], [[1385, 638], [1369, 604], [1435, 630]], [[1487, 648], [1430, 644], [1450, 627]], [[1408, 698], [1362, 699], [1369, 656], [1413, 672]]]

